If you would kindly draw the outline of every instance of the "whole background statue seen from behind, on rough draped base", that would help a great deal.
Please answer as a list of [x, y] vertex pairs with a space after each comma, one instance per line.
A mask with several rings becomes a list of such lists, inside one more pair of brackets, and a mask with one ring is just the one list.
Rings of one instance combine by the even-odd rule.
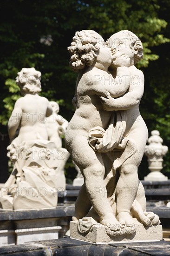
[[[52, 107], [41, 90], [41, 73], [22, 68], [16, 78], [21, 97], [8, 121], [8, 156], [13, 171], [1, 189], [1, 208], [39, 209], [57, 206], [57, 147], [48, 141], [46, 118]], [[18, 131], [18, 132], [17, 132]]]

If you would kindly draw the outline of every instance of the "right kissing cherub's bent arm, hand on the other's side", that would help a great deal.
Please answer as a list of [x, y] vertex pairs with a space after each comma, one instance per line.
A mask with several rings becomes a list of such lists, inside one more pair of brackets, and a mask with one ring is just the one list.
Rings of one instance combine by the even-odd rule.
[[126, 110], [135, 107], [141, 100], [144, 93], [144, 74], [138, 71], [130, 85], [130, 90], [124, 96], [114, 99], [106, 92], [105, 97], [100, 97], [103, 108], [107, 111]]

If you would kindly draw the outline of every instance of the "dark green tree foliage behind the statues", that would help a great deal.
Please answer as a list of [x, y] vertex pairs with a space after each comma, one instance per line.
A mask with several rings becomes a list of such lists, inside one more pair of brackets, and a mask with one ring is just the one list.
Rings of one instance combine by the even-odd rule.
[[[149, 131], [157, 128], [168, 144], [168, 9], [168, 0], [1, 0], [0, 123], [7, 124], [20, 97], [14, 79], [22, 67], [42, 73], [41, 95], [57, 101], [60, 114], [70, 120], [77, 74], [68, 67], [67, 47], [74, 33], [93, 29], [106, 40], [128, 29], [144, 46], [144, 59], [137, 65], [144, 71], [147, 88], [141, 112]], [[48, 43], [48, 35], [51, 44], [40, 43], [42, 38]]]

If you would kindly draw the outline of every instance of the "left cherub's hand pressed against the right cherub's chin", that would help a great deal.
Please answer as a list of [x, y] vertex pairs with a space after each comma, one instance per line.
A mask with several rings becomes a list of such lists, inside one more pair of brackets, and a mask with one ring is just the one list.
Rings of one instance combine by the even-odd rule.
[[113, 56], [112, 64], [114, 67], [130, 67], [130, 58], [128, 55], [121, 53], [118, 49], [111, 47]]

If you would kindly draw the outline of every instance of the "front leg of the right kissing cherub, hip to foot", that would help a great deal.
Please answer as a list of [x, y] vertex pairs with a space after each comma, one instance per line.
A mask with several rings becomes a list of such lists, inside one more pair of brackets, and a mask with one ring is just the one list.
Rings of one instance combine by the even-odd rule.
[[[136, 123], [134, 123], [135, 127]], [[127, 159], [120, 167], [120, 177], [117, 183], [117, 220], [131, 227], [135, 224], [135, 219], [132, 218], [130, 211], [134, 200], [137, 197], [137, 189], [139, 186], [139, 180], [137, 175], [137, 168], [142, 160], [144, 148], [146, 145], [147, 134], [141, 133], [137, 129], [130, 131], [127, 139], [134, 141], [137, 150], [134, 155]], [[144, 202], [141, 200], [142, 207]]]

